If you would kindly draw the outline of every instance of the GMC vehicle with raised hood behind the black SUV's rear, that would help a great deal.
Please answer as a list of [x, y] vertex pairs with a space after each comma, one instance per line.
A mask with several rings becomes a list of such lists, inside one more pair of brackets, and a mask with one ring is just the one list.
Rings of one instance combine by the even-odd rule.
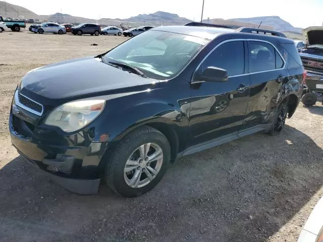
[[317, 101], [317, 93], [323, 93], [323, 27], [303, 29], [303, 36], [306, 46], [298, 49], [307, 71], [302, 102], [311, 106]]

